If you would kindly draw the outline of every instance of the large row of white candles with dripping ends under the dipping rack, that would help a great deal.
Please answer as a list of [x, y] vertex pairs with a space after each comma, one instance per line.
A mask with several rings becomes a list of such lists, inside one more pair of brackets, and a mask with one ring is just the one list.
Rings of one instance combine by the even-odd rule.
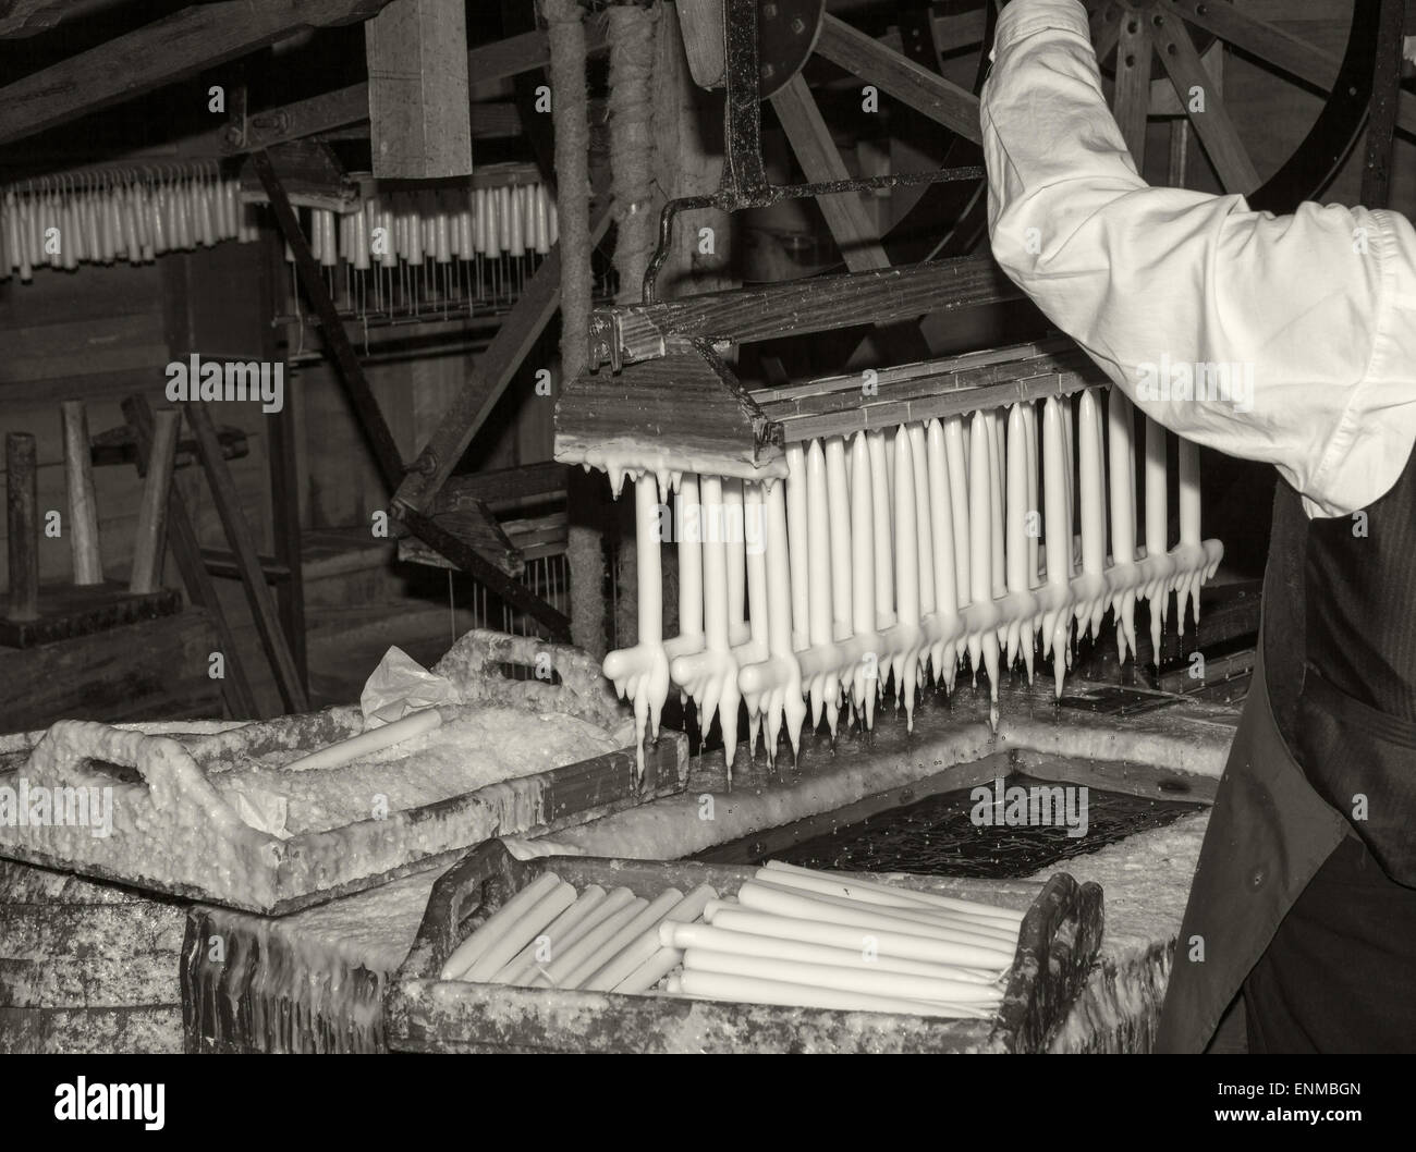
[[[605, 674], [634, 702], [641, 740], [677, 684], [704, 732], [719, 718], [729, 771], [739, 702], [749, 753], [760, 730], [770, 759], [783, 726], [799, 749], [804, 696], [813, 730], [824, 715], [834, 735], [843, 712], [869, 727], [892, 676], [912, 723], [916, 689], [930, 679], [952, 689], [966, 654], [974, 676], [987, 671], [997, 723], [1001, 668], [1021, 657], [1031, 679], [1038, 647], [1061, 695], [1073, 621], [1076, 635], [1099, 638], [1112, 609], [1126, 659], [1136, 652], [1137, 599], [1151, 601], [1155, 652], [1171, 592], [1181, 631], [1187, 600], [1198, 620], [1199, 586], [1222, 546], [1201, 541], [1199, 456], [1181, 440], [1180, 543], [1168, 548], [1165, 440], [1147, 419], [1140, 551], [1134, 408], [1116, 389], [1087, 389], [1075, 403], [1051, 396], [1041, 419], [1024, 402], [790, 444], [784, 484], [640, 473], [639, 643], [610, 652]], [[612, 468], [616, 493], [624, 471]], [[680, 635], [664, 641], [656, 541], [670, 488], [675, 507], [697, 507], [700, 519], [760, 525], [760, 546], [748, 548], [746, 534], [701, 532], [692, 543], [675, 531]]]

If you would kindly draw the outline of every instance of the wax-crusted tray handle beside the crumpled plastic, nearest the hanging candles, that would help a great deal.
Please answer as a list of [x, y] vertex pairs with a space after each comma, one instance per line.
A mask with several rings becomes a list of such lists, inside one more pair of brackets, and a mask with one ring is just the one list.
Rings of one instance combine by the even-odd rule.
[[[504, 665], [524, 667], [531, 676], [510, 679]], [[432, 671], [457, 685], [469, 701], [564, 712], [602, 727], [615, 727], [629, 715], [595, 657], [569, 644], [552, 644], [534, 635], [473, 628], [447, 650]], [[559, 684], [549, 679], [552, 671]]]

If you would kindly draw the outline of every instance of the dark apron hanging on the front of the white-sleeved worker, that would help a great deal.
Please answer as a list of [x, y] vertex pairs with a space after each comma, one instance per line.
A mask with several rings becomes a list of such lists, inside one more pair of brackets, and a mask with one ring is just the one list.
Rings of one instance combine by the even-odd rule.
[[1199, 852], [1157, 1052], [1205, 1050], [1284, 914], [1351, 831], [1290, 751], [1303, 684], [1307, 524], [1280, 478], [1253, 684]]

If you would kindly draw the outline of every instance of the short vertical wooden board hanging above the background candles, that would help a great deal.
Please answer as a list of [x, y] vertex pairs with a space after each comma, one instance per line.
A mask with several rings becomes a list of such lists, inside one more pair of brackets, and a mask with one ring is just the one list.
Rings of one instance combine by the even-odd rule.
[[374, 175], [472, 173], [467, 21], [462, 4], [394, 0], [364, 25]]

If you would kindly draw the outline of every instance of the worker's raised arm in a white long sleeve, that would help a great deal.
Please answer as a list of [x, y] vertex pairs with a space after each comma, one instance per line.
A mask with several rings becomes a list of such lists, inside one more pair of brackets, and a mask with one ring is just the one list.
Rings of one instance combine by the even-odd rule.
[[[1273, 217], [1239, 195], [1148, 187], [1076, 0], [1004, 8], [983, 136], [994, 256], [1147, 415], [1276, 464], [1310, 515], [1395, 483], [1416, 440], [1405, 218], [1317, 204]], [[1225, 371], [1212, 365], [1235, 365], [1229, 398], [1157, 398], [1184, 396], [1187, 372], [1212, 392]]]

